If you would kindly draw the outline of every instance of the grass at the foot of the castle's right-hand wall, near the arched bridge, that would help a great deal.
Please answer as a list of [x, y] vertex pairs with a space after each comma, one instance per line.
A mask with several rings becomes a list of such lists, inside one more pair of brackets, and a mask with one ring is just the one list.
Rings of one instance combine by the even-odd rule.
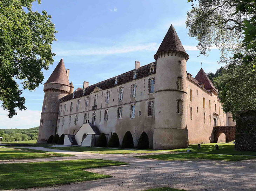
[[187, 147], [187, 148], [163, 150], [163, 151], [187, 152], [187, 150], [190, 149], [192, 153], [254, 155], [254, 156], [256, 156], [256, 152], [235, 150], [235, 144], [233, 144], [233, 141], [228, 142], [228, 143], [217, 143], [217, 144], [219, 146], [218, 150], [215, 149], [216, 143], [208, 143], [208, 144], [201, 144], [201, 149], [198, 149], [197, 144], [196, 144], [196, 145], [189, 145], [189, 147]]

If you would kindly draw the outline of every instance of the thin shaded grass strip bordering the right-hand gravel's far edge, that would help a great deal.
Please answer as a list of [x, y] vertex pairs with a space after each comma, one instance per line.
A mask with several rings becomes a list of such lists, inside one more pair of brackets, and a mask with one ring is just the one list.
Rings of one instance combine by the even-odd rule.
[[225, 154], [206, 154], [206, 153], [173, 153], [159, 155], [136, 156], [141, 159], [156, 159], [163, 161], [191, 161], [191, 160], [223, 160], [223, 161], [240, 161], [256, 159], [255, 156], [244, 155], [225, 155]]

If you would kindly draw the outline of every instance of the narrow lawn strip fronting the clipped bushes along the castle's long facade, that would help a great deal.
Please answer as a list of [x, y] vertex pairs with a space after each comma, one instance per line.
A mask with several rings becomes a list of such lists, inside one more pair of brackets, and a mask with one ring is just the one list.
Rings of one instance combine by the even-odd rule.
[[[47, 147], [45, 147], [47, 148]], [[99, 148], [99, 147], [49, 147], [51, 149], [71, 150], [78, 152], [89, 152], [99, 154], [130, 154], [130, 153], [159, 153], [159, 150], [126, 150], [120, 148]]]

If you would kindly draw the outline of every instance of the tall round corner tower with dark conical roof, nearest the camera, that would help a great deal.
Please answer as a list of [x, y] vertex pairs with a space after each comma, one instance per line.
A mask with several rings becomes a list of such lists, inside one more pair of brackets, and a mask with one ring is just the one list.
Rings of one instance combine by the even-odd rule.
[[156, 77], [153, 149], [187, 147], [186, 61], [189, 56], [173, 25], [154, 58]]

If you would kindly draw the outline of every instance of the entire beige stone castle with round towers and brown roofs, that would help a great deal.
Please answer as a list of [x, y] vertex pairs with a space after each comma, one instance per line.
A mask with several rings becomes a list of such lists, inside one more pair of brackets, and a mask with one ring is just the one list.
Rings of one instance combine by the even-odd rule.
[[[153, 149], [181, 148], [213, 141], [214, 126], [234, 125], [222, 110], [218, 90], [201, 68], [195, 78], [186, 71], [189, 59], [170, 26], [155, 61], [74, 91], [63, 59], [44, 84], [39, 136], [65, 134], [65, 145], [95, 146], [100, 133], [116, 132], [120, 145], [127, 131], [134, 146], [144, 131]], [[231, 124], [232, 123], [232, 124]]]

